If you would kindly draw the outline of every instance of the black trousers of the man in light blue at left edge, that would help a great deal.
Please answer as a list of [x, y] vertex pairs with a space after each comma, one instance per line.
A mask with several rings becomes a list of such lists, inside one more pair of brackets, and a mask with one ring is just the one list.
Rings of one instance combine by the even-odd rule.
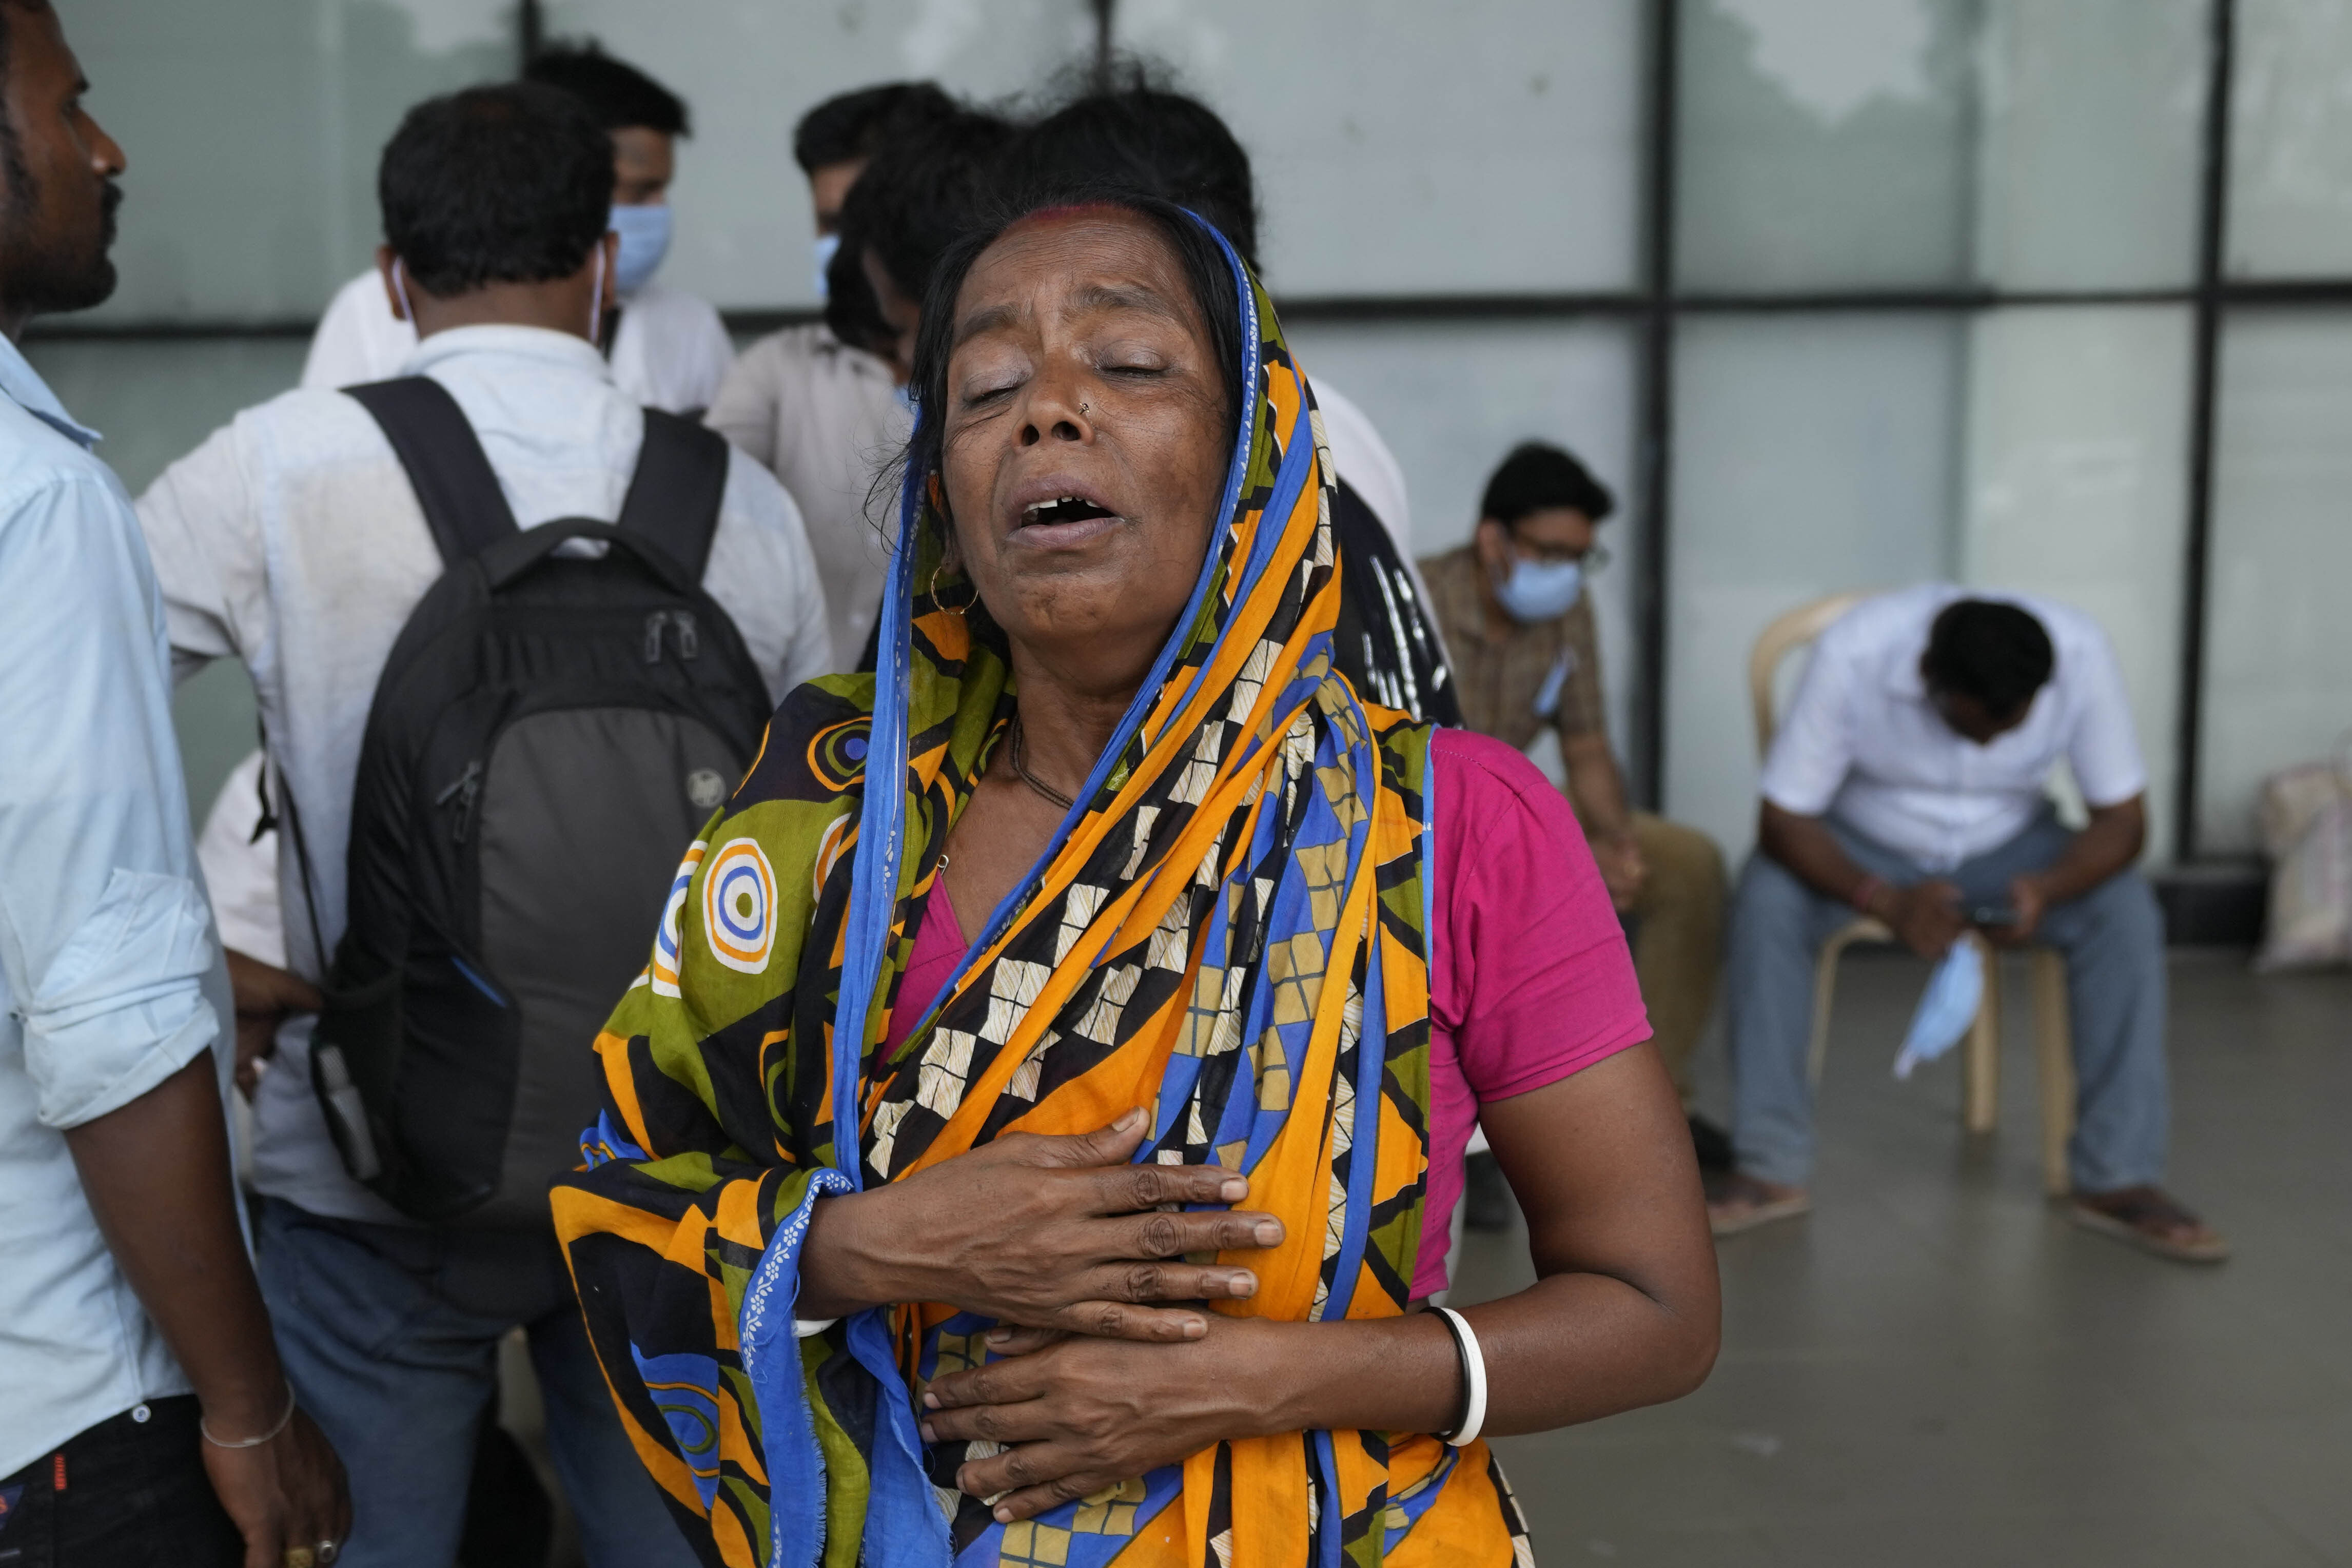
[[0, 1568], [238, 1568], [195, 1418], [195, 1394], [151, 1399], [0, 1479]]

